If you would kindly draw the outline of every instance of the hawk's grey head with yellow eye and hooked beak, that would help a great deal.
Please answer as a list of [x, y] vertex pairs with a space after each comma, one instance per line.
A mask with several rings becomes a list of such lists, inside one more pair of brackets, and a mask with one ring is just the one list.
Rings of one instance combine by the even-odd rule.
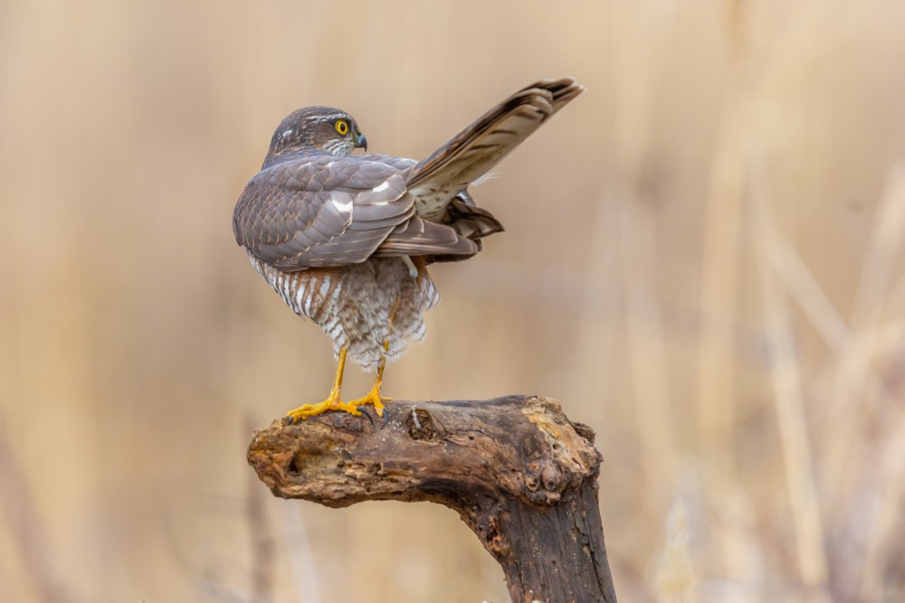
[[332, 107], [306, 107], [293, 111], [273, 132], [265, 164], [279, 157], [316, 148], [330, 155], [350, 155], [354, 148], [367, 151], [367, 138], [352, 116]]

